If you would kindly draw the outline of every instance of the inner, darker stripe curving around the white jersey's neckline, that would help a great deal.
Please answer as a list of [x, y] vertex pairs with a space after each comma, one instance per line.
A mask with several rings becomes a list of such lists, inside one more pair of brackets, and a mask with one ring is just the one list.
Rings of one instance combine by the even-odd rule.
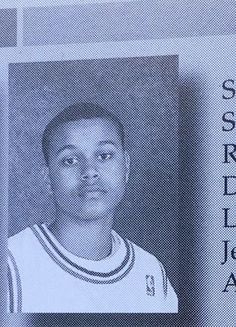
[[42, 226], [38, 226], [40, 231], [43, 233], [43, 235], [46, 237], [47, 241], [50, 243], [50, 245], [53, 247], [53, 249], [57, 252], [57, 254], [63, 259], [65, 260], [67, 263], [69, 263], [71, 266], [73, 266], [74, 268], [82, 271], [85, 274], [91, 275], [91, 276], [97, 276], [97, 277], [111, 277], [117, 273], [119, 273], [128, 263], [129, 259], [130, 259], [130, 247], [129, 244], [126, 240], [124, 240], [125, 242], [125, 246], [126, 246], [126, 255], [125, 258], [123, 260], [123, 262], [121, 263], [121, 265], [119, 267], [117, 267], [116, 269], [108, 272], [108, 273], [101, 273], [101, 272], [96, 272], [96, 271], [92, 271], [92, 270], [88, 270], [84, 267], [78, 266], [76, 263], [74, 263], [73, 261], [71, 261], [69, 258], [67, 258], [66, 256], [64, 256], [63, 253], [61, 253], [61, 251], [58, 249], [58, 247], [53, 243], [53, 241], [50, 239], [50, 236], [48, 235], [48, 233], [43, 229]]

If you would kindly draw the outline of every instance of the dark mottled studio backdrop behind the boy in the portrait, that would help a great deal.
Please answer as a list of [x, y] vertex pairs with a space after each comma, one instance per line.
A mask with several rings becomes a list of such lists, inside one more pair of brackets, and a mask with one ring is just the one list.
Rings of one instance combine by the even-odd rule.
[[158, 257], [177, 289], [178, 57], [10, 64], [9, 95], [9, 234], [53, 219], [43, 130], [64, 107], [94, 102], [124, 123], [131, 155], [114, 229]]

